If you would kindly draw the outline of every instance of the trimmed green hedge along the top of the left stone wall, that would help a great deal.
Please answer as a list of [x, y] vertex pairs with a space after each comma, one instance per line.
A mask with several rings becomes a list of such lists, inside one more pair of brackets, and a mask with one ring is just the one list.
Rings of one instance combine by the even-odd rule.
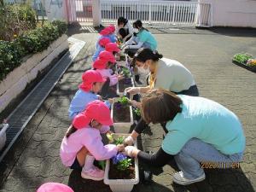
[[67, 31], [67, 24], [61, 20], [47, 22], [28, 32], [24, 32], [14, 41], [0, 40], [0, 81], [15, 67], [19, 67], [22, 57], [47, 49], [49, 44]]

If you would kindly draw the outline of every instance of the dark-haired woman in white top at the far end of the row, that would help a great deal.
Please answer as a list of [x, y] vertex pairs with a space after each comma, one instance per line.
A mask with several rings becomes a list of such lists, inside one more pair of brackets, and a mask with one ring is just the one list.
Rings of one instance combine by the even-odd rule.
[[133, 28], [127, 19], [124, 17], [119, 17], [115, 33], [119, 38], [122, 39], [123, 42], [125, 42], [131, 38], [133, 34]]

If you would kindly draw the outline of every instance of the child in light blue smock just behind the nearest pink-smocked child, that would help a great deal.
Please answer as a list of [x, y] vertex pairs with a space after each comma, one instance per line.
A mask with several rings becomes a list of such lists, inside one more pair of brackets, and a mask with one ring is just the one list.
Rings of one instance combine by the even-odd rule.
[[[83, 82], [79, 85], [79, 90], [73, 97], [69, 109], [68, 115], [70, 119], [73, 119], [78, 113], [84, 111], [86, 105], [89, 102], [95, 101], [101, 96], [97, 95], [105, 83], [106, 79], [102, 77], [102, 74], [95, 70], [88, 70], [83, 73]], [[107, 102], [110, 106], [110, 104]]]

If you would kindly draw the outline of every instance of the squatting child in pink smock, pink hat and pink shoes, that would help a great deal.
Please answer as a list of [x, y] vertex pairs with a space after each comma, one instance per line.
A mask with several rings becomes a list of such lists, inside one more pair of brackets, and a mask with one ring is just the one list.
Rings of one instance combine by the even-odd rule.
[[94, 160], [108, 160], [124, 149], [123, 145], [102, 143], [101, 133], [113, 125], [110, 110], [99, 100], [90, 102], [79, 113], [61, 143], [61, 161], [72, 169], [83, 167], [81, 177], [102, 180], [104, 171], [93, 165]]

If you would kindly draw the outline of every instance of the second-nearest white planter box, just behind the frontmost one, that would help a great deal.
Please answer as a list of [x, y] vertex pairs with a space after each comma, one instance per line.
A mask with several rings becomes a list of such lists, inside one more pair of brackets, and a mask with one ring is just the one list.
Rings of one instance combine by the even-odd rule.
[[[117, 102], [119, 98], [113, 98], [113, 103]], [[113, 103], [111, 105], [111, 118], [113, 119]], [[133, 124], [133, 113], [132, 113], [132, 108], [130, 108], [130, 117], [131, 121], [130, 122], [119, 122], [119, 123], [113, 123], [113, 129], [114, 132], [116, 133], [129, 133], [131, 125]]]

